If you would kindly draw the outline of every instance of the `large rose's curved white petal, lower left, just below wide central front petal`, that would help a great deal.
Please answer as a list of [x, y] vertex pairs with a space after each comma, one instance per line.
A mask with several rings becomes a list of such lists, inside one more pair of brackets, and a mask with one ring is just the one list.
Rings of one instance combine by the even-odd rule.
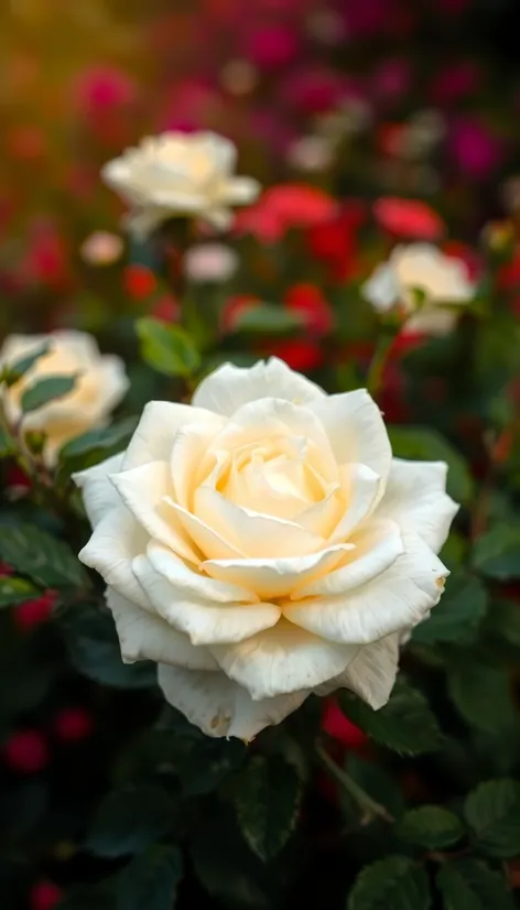
[[192, 644], [242, 641], [274, 626], [282, 613], [274, 604], [214, 604], [186, 595], [155, 572], [147, 556], [137, 556], [132, 570], [159, 615]]

